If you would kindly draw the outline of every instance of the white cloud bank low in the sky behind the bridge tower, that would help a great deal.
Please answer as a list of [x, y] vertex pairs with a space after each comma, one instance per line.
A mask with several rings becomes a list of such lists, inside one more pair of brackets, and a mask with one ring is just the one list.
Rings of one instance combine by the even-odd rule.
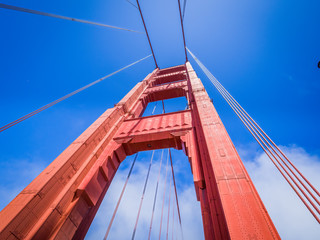
[[[301, 172], [315, 185], [317, 189], [319, 189], [320, 158], [318, 156], [310, 155], [304, 149], [296, 146], [281, 148], [292, 162], [294, 162], [294, 164], [301, 170]], [[290, 240], [319, 239], [320, 228], [318, 223], [278, 173], [268, 157], [264, 153], [261, 153], [254, 144], [241, 146], [237, 149], [244, 160], [250, 177], [252, 178], [280, 236], [283, 239]], [[120, 167], [116, 174], [86, 239], [91, 240], [103, 238], [129, 170], [129, 162], [131, 161], [127, 160], [128, 159], [125, 160], [126, 162]], [[156, 160], [156, 163], [151, 168], [150, 179], [143, 202], [136, 239], [146, 239], [148, 235], [154, 190], [159, 169], [159, 161], [157, 158]], [[174, 161], [176, 178], [177, 181], [180, 180], [178, 183], [178, 192], [184, 237], [185, 239], [203, 239], [200, 204], [196, 200], [192, 178], [189, 176], [189, 163], [186, 158], [174, 158]], [[10, 163], [7, 164], [1, 163], [2, 170], [0, 173], [2, 174], [2, 177], [10, 176], [10, 181], [12, 181], [12, 183], [8, 183], [6, 185], [2, 184], [0, 186], [0, 207], [8, 204], [16, 194], [18, 194], [36, 175], [41, 172], [44, 168], [44, 164], [39, 165], [39, 162], [41, 161], [34, 163], [29, 160], [19, 160], [10, 161]], [[116, 215], [114, 224], [111, 228], [109, 239], [131, 238], [147, 168], [147, 159], [140, 159], [137, 161], [123, 200], [120, 204], [118, 214]], [[19, 173], [19, 178], [12, 179], [12, 176], [17, 174], [17, 172]], [[153, 239], [158, 238], [159, 234], [164, 175], [164, 168], [162, 168], [156, 212], [152, 228]], [[173, 195], [171, 195], [171, 197], [173, 197]], [[168, 203], [166, 202], [162, 225], [162, 239], [165, 238], [167, 227], [167, 207]], [[172, 219], [172, 211], [170, 212], [170, 219]], [[177, 221], [176, 209], [174, 219], [175, 234], [177, 234], [178, 239], [181, 239], [179, 238], [180, 229]], [[172, 225], [170, 224], [170, 238], [172, 236], [171, 227]]]

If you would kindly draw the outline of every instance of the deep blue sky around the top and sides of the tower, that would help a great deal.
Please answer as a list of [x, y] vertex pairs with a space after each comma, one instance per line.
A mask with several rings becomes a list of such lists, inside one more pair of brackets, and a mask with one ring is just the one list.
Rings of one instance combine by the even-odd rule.
[[[1, 2], [144, 31], [139, 12], [125, 0]], [[183, 64], [177, 1], [140, 4], [160, 68]], [[306, 169], [308, 159], [318, 167], [320, 156], [319, 9], [317, 0], [188, 0], [185, 15], [189, 49], [293, 159], [305, 157], [301, 166]], [[1, 126], [150, 54], [142, 34], [4, 9], [0, 28]], [[246, 165], [255, 175], [264, 166], [259, 165], [261, 151], [196, 63], [191, 64], [244, 161], [258, 164]], [[153, 69], [149, 58], [1, 133], [1, 208]], [[173, 109], [182, 105], [170, 102]], [[183, 155], [177, 153], [177, 158]], [[317, 180], [312, 170], [308, 177]], [[269, 212], [280, 208], [270, 201], [265, 203]], [[276, 222], [277, 215], [271, 217]], [[294, 220], [287, 221], [294, 226]]]

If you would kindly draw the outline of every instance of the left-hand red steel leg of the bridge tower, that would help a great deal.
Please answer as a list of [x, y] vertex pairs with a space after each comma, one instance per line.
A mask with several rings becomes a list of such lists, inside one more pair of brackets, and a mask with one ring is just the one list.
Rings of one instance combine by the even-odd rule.
[[113, 141], [159, 70], [103, 113], [0, 212], [0, 239], [83, 238], [126, 157]]

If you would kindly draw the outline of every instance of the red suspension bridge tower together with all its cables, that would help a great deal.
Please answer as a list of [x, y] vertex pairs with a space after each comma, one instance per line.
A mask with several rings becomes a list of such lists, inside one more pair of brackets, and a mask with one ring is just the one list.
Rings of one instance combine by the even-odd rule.
[[[161, 165], [165, 165], [163, 161], [166, 161], [166, 176], [168, 174], [171, 177], [168, 183], [165, 182], [168, 184], [169, 193], [165, 188], [159, 239], [161, 238], [162, 218], [164, 217], [163, 203], [166, 194], [169, 194], [169, 202], [170, 198], [175, 202], [181, 231], [180, 237], [183, 239], [181, 209], [170, 150], [174, 148], [183, 150], [189, 158], [197, 200], [201, 205], [206, 239], [280, 239], [210, 97], [188, 60], [188, 53], [252, 134], [276, 169], [303, 202], [306, 210], [312, 214], [315, 221], [320, 223], [319, 191], [187, 47], [183, 21], [186, 1], [183, 6], [181, 6], [180, 0], [177, 1], [185, 62], [165, 69], [160, 69], [157, 64], [139, 1], [136, 1], [137, 5], [130, 1], [129, 3], [139, 10], [151, 54], [6, 124], [0, 128], [0, 132], [8, 130], [145, 59], [153, 57], [155, 69], [136, 84], [119, 103], [105, 111], [1, 211], [0, 238], [83, 239], [120, 164], [126, 156], [135, 155], [104, 236], [104, 239], [108, 239], [138, 153], [152, 150], [132, 230], [132, 239], [134, 239], [154, 151], [162, 149], [150, 227], [146, 231], [148, 231], [148, 239], [150, 239]], [[131, 29], [12, 5], [0, 4], [0, 7], [140, 33]], [[166, 113], [163, 100], [177, 97], [187, 99], [187, 108], [182, 111]], [[162, 102], [162, 114], [143, 116], [148, 104], [157, 101]], [[167, 150], [164, 151], [164, 149]], [[168, 169], [170, 170], [168, 171]], [[172, 195], [171, 187], [174, 189]], [[170, 208], [167, 224], [169, 224], [169, 212]], [[172, 221], [173, 223], [174, 221]], [[165, 226], [163, 227], [165, 228]], [[168, 228], [167, 225], [166, 239], [168, 239]]]

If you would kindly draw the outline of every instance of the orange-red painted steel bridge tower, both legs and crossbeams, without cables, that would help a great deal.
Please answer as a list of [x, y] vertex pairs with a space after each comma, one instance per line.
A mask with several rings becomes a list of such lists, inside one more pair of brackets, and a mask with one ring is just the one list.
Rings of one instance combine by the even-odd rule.
[[[182, 96], [189, 109], [141, 117]], [[189, 62], [154, 70], [103, 113], [2, 210], [0, 239], [83, 239], [126, 156], [169, 147], [189, 157], [206, 239], [280, 239]]]

